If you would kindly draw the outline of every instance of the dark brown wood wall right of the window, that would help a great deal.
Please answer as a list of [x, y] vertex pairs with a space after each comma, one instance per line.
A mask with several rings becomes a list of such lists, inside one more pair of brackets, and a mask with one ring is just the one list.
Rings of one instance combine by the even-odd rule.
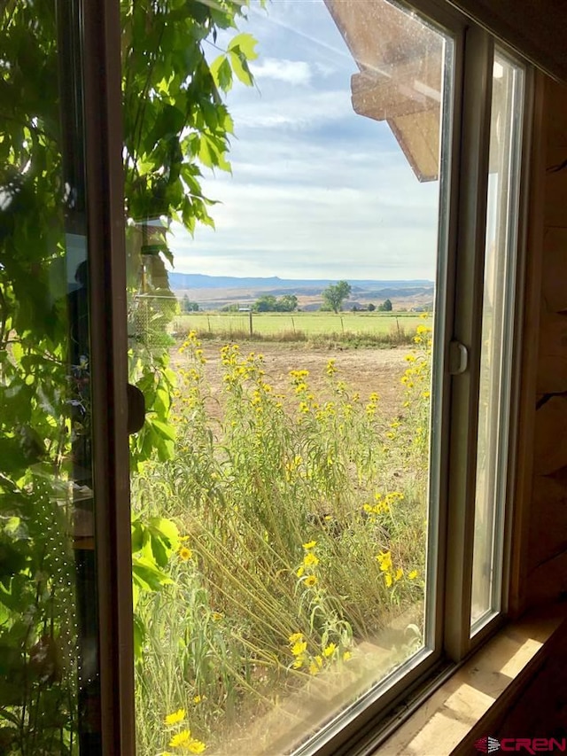
[[546, 82], [546, 176], [541, 250], [529, 604], [567, 593], [567, 87]]

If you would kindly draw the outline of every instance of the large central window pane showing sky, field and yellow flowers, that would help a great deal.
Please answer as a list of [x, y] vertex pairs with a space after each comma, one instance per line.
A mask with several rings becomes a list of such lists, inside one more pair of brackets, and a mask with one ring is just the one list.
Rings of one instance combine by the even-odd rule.
[[126, 5], [137, 746], [293, 752], [428, 653], [452, 43], [384, 0]]

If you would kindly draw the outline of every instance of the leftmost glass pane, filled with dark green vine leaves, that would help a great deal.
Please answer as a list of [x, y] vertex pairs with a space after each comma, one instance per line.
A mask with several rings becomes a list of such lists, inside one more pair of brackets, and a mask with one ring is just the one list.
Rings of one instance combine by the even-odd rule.
[[100, 752], [78, 4], [4, 4], [0, 752]]

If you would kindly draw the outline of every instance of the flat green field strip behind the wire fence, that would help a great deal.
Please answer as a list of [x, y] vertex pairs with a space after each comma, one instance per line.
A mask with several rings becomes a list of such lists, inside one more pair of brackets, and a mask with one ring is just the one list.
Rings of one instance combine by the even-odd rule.
[[[383, 335], [392, 338], [408, 336], [420, 323], [428, 323], [416, 313], [252, 313], [252, 334], [256, 337], [276, 338], [292, 334], [307, 338], [330, 334]], [[249, 334], [250, 313], [190, 313], [177, 316], [173, 324], [176, 333], [197, 331], [199, 335], [227, 336]]]

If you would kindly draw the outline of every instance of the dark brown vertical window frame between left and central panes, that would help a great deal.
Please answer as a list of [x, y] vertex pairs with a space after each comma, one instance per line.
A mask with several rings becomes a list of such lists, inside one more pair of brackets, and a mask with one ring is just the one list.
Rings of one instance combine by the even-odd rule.
[[82, 5], [102, 751], [136, 752], [120, 5]]

